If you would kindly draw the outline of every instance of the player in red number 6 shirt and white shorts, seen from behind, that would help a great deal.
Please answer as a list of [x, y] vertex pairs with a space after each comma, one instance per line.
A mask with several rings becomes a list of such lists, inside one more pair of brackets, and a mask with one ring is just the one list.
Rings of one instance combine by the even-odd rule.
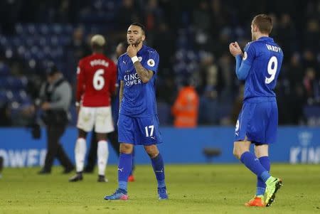
[[111, 95], [117, 79], [116, 65], [103, 55], [105, 38], [95, 35], [91, 39], [92, 55], [82, 58], [77, 69], [76, 107], [78, 112], [78, 139], [75, 143], [77, 174], [71, 182], [82, 180], [82, 171], [87, 150], [87, 132], [95, 126], [97, 136], [98, 181], [107, 182], [105, 167], [109, 156], [107, 133], [114, 131]]

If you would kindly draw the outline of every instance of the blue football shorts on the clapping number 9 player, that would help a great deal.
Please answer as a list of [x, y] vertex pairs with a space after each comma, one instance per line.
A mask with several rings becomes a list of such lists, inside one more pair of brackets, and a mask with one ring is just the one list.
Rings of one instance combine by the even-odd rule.
[[235, 125], [235, 141], [273, 144], [277, 139], [278, 108], [275, 97], [245, 100]]

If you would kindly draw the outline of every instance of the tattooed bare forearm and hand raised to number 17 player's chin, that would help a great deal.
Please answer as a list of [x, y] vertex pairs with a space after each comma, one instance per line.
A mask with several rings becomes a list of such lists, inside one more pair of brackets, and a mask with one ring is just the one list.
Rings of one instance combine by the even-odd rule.
[[[137, 48], [134, 45], [131, 44], [128, 46], [127, 54], [130, 58], [137, 57], [137, 53]], [[144, 83], [149, 82], [151, 77], [154, 75], [154, 72], [152, 70], [147, 70], [146, 68], [144, 68], [144, 66], [142, 66], [139, 60], [136, 60], [136, 62], [134, 62], [134, 68], [136, 69], [137, 74], [140, 77], [140, 80], [142, 80], [142, 82]]]

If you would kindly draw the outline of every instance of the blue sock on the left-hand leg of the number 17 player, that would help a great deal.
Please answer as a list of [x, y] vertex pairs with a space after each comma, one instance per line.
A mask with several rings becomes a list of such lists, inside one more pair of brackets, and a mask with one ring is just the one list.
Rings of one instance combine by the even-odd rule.
[[119, 188], [127, 191], [128, 177], [132, 171], [132, 154], [123, 154], [119, 156], [118, 182]]

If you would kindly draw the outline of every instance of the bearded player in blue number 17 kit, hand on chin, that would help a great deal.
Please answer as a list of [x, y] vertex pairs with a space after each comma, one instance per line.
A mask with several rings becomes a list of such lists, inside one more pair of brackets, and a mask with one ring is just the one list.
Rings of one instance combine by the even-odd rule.
[[144, 46], [145, 28], [132, 23], [127, 31], [127, 53], [118, 59], [119, 119], [118, 133], [120, 156], [117, 190], [105, 200], [127, 200], [127, 181], [132, 170], [132, 150], [143, 145], [150, 156], [156, 180], [159, 200], [168, 199], [164, 181], [164, 161], [156, 146], [160, 144], [159, 119], [156, 112], [156, 73], [159, 55], [156, 50]]

